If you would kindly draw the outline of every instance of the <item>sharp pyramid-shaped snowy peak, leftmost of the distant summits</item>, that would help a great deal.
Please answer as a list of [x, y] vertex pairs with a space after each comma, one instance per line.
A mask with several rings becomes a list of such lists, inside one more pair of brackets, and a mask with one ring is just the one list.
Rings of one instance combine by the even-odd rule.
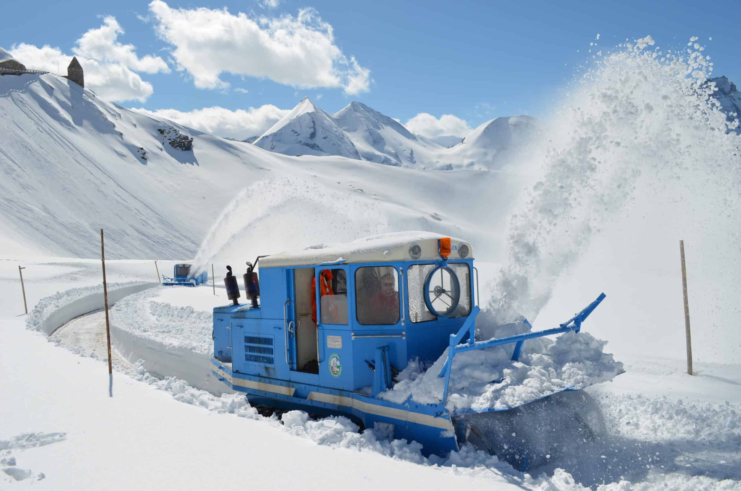
[[308, 97], [253, 144], [285, 155], [338, 155], [360, 159], [355, 145], [333, 118]]

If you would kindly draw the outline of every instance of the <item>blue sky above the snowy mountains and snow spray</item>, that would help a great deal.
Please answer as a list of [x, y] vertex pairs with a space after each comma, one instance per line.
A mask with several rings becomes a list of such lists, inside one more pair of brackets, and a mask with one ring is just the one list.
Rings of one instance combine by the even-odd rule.
[[[276, 0], [262, 1], [276, 3]], [[451, 114], [465, 122], [468, 128], [475, 128], [496, 116], [516, 113], [544, 117], [548, 107], [561, 96], [576, 67], [591, 59], [587, 50], [597, 33], [600, 34], [599, 45], [592, 49], [602, 50], [609, 50], [626, 38], [632, 41], [647, 34], [662, 47], [682, 47], [691, 36], [698, 36], [698, 42], [706, 46], [705, 54], [712, 56], [714, 73], [741, 82], [739, 16], [731, 16], [728, 11], [724, 13], [721, 7], [704, 7], [697, 2], [304, 1], [279, 0], [277, 6], [270, 7], [258, 0], [218, 3], [167, 0], [157, 8], [151, 7], [148, 1], [110, 4], [76, 1], [33, 4], [33, 10], [29, 10], [27, 4], [12, 2], [3, 7], [7, 19], [13, 22], [3, 22], [0, 46], [10, 50], [13, 45], [17, 48], [25, 43], [27, 47], [21, 52], [26, 59], [20, 59], [21, 56], [13, 51], [21, 62], [29, 67], [56, 70], [50, 67], [55, 56], [69, 59], [75, 54], [78, 39], [88, 30], [99, 29], [105, 17], [112, 16], [113, 22], [125, 31], [116, 35], [115, 42], [133, 45], [136, 56], [133, 62], [122, 62], [120, 56], [101, 58], [108, 65], [127, 66], [124, 71], [128, 79], [116, 82], [112, 79], [116, 70], [108, 67], [106, 74], [101, 76], [111, 87], [101, 86], [98, 91], [102, 90], [109, 99], [135, 98], [122, 102], [127, 107], [188, 113], [191, 120], [186, 122], [191, 124], [197, 117], [213, 117], [213, 114], [192, 113], [194, 110], [218, 106], [236, 111], [265, 105], [288, 110], [303, 96], [309, 96], [330, 113], [339, 111], [352, 100], [359, 100], [403, 123], [418, 113], [430, 113], [435, 118]], [[286, 15], [291, 16], [286, 22], [288, 27], [296, 27], [300, 24], [299, 10], [310, 7], [313, 10], [308, 12], [313, 13], [313, 17], [308, 22], [307, 35], [319, 30], [327, 38], [331, 30], [333, 38], [326, 48], [331, 48], [344, 60], [342, 73], [331, 81], [332, 77], [326, 77], [316, 68], [327, 62], [322, 59], [325, 55], [316, 50], [304, 53], [299, 46], [293, 47], [297, 50], [294, 54], [307, 64], [304, 67], [287, 62], [279, 67], [267, 67], [263, 71], [268, 76], [251, 76], [249, 72], [262, 70], [261, 64], [270, 65], [269, 60], [265, 60], [269, 55], [259, 44], [253, 45], [255, 49], [246, 50], [221, 39], [201, 43], [196, 29], [183, 27], [174, 17], [179, 9], [191, 16], [208, 16], [210, 10], [225, 7], [230, 16], [219, 13], [219, 18], [227, 24], [232, 20], [237, 22], [236, 16], [241, 12], [246, 14], [247, 20], [268, 19], [256, 24], [264, 30], [268, 25], [278, 24], [275, 19], [283, 16], [285, 20]], [[168, 21], [167, 16], [173, 17]], [[165, 39], [161, 32], [158, 34], [159, 27], [167, 22], [172, 23], [170, 39]], [[247, 21], [242, 19], [242, 22]], [[175, 33], [178, 29], [182, 32]], [[713, 40], [708, 41], [709, 37]], [[304, 41], [304, 47], [313, 42], [310, 37]], [[99, 39], [91, 39], [84, 56], [96, 59], [95, 54], [104, 51], [96, 45], [99, 42]], [[58, 54], [41, 56], [31, 48], [44, 45], [59, 47]], [[198, 47], [200, 59], [219, 60], [216, 65], [223, 70], [241, 65], [236, 71], [247, 74], [222, 72], [216, 82], [205, 80], [203, 72], [197, 75], [198, 60], [191, 63], [193, 66], [185, 63], [185, 70], [176, 70], [178, 65], [184, 64], [182, 59], [173, 57], [179, 47], [183, 53]], [[322, 50], [327, 51], [319, 48]], [[160, 60], [147, 65], [142, 61], [146, 55]], [[353, 68], [350, 57], [354, 57], [359, 68]], [[336, 62], [337, 58], [334, 60]], [[94, 68], [90, 71], [94, 72]], [[65, 70], [62, 66], [62, 73]], [[86, 68], [86, 74], [88, 71]], [[350, 76], [360, 73], [359, 90], [343, 80], [348, 73]], [[139, 84], [136, 77], [145, 85], [149, 84], [150, 89], [136, 88]], [[323, 86], [302, 87], [307, 81], [308, 85]], [[120, 83], [131, 87], [119, 90], [116, 84]], [[211, 86], [198, 88], [196, 84]], [[171, 111], [173, 115], [179, 113]], [[245, 132], [238, 128], [222, 128], [224, 122], [214, 122], [211, 129], [225, 136], [250, 136], [250, 131], [257, 131], [256, 128], [268, 125], [280, 115], [276, 111], [269, 117], [266, 114], [253, 113], [255, 118], [262, 119]], [[451, 131], [462, 131], [459, 122], [451, 119], [449, 122]], [[415, 129], [423, 132], [425, 127], [421, 125]], [[428, 129], [428, 133], [433, 131], [435, 128]], [[438, 131], [442, 130], [438, 128]]]

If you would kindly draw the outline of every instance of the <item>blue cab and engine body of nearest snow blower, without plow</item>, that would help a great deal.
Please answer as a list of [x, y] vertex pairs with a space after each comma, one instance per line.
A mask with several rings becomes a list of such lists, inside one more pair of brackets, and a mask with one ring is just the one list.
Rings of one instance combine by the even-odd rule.
[[259, 308], [213, 309], [214, 358], [299, 397], [391, 387], [409, 360], [442, 355], [476, 300], [471, 244], [429, 232], [262, 257], [259, 282]]

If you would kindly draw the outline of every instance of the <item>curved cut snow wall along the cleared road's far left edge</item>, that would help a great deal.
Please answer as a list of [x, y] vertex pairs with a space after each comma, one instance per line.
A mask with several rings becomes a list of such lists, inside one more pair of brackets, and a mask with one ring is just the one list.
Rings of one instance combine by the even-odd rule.
[[[159, 285], [159, 283], [138, 283], [134, 285], [122, 286], [119, 288], [113, 287], [113, 289], [110, 289], [110, 291], [108, 291], [108, 307], [110, 308], [111, 306], [113, 306], [114, 303], [121, 300], [123, 297], [126, 297], [127, 295], [150, 289], [157, 285]], [[73, 290], [76, 290], [77, 292], [82, 289]], [[32, 312], [32, 317], [29, 319], [27, 326], [31, 327], [32, 329], [39, 329], [46, 335], [51, 335], [54, 331], [59, 329], [61, 326], [64, 326], [64, 324], [70, 322], [70, 320], [73, 320], [75, 317], [79, 317], [82, 314], [87, 314], [87, 312], [93, 312], [93, 310], [103, 309], [105, 303], [102, 285], [90, 287], [90, 291], [94, 292], [90, 294], [83, 294], [82, 296], [77, 297], [75, 300], [71, 300], [68, 303], [64, 303], [64, 301], [69, 300], [70, 297], [76, 296], [74, 295], [74, 293], [76, 292], [64, 291], [61, 294], [56, 294], [52, 297], [47, 297], [41, 300], [41, 302], [39, 302], [39, 305], [37, 305], [34, 309], [34, 311], [36, 312]], [[70, 292], [69, 295], [67, 295], [68, 292]], [[52, 305], [48, 305], [50, 303]], [[59, 308], [54, 309], [52, 312], [48, 312], [50, 310], [50, 307], [53, 308], [54, 306], [59, 306]], [[38, 315], [41, 317], [40, 322], [39, 319], [35, 318], [36, 316], [33, 316], [33, 314], [37, 314], [37, 312]]]

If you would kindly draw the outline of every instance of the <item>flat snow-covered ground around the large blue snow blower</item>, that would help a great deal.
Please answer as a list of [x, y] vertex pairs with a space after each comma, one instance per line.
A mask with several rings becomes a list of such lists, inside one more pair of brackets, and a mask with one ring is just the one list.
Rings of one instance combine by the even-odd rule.
[[[23, 263], [32, 305], [51, 295], [62, 308], [79, 296], [77, 289], [98, 286], [100, 270], [94, 263], [50, 259]], [[19, 264], [9, 258], [2, 263], [4, 272]], [[59, 263], [84, 273], [78, 273], [73, 283], [64, 283], [68, 273]], [[109, 261], [107, 271], [112, 281], [145, 281], [150, 279], [150, 266], [151, 262]], [[64, 287], [75, 290], [64, 294]], [[19, 281], [4, 275], [0, 289], [5, 332], [1, 383], [6, 388], [4, 401], [10, 402], [1, 406], [0, 452], [5, 464], [0, 468], [7, 472], [0, 482], [13, 489], [28, 484], [39, 489], [199, 489], [207, 486], [213, 472], [226, 473], [233, 465], [230, 458], [213, 458], [213, 449], [222, 446], [262, 469], [253, 475], [253, 483], [264, 487], [301, 485], [300, 481], [305, 485], [307, 475], [312, 485], [328, 486], [339, 475], [363, 489], [412, 483], [431, 489], [582, 489], [574, 480], [593, 488], [604, 480], [603, 490], [664, 489], [664, 483], [677, 490], [741, 489], [737, 365], [696, 363], [697, 375], [690, 377], [682, 360], [628, 357], [625, 374], [586, 389], [605, 421], [599, 438], [589, 444], [590, 452], [599, 456], [582, 455], [578, 461], [559, 457], [534, 475], [522, 475], [469, 447], [448, 459], [425, 459], [416, 444], [388, 440], [383, 429], [359, 434], [342, 418], [310, 421], [302, 413], [290, 412], [282, 417], [282, 425], [276, 418], [257, 415], [238, 395], [217, 397], [177, 378], [162, 377], [167, 374], [154, 378], [143, 363], [123, 360], [115, 348], [109, 398], [103, 312], [79, 317], [47, 337], [26, 329], [27, 316], [16, 317], [22, 314], [22, 310], [16, 314], [19, 305], [22, 309]], [[223, 290], [216, 293], [223, 295]], [[221, 303], [214, 300], [210, 287], [156, 287], [119, 300], [111, 309], [114, 326], [115, 312], [137, 298], [139, 304], [162, 306], [150, 312], [153, 320], [142, 320], [142, 326], [159, 320], [165, 332], [173, 312], [207, 313], [213, 303]], [[44, 305], [39, 303], [39, 308]], [[582, 334], [588, 332], [587, 325]], [[210, 324], [204, 329], [210, 332]], [[167, 356], [153, 352], [150, 360]], [[285, 455], [292, 455], [290, 466], [297, 472], [279, 472], [289, 465], [282, 464]], [[384, 472], [376, 472], [378, 468]], [[39, 481], [41, 473], [44, 478]], [[632, 484], [608, 485], [620, 481]]]

